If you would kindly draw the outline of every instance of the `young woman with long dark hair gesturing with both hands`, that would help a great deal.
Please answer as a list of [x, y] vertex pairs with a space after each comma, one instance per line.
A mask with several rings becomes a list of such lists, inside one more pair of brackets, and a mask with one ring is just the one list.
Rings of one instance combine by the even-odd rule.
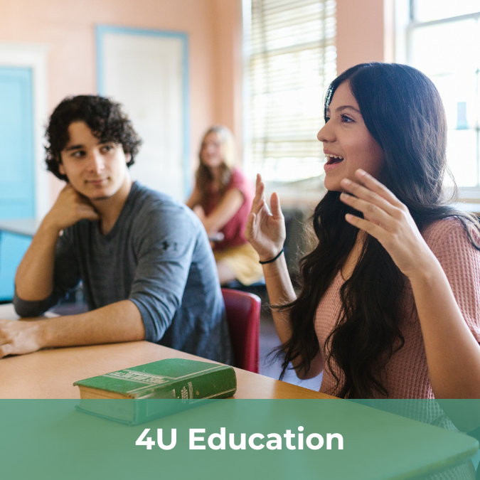
[[437, 89], [406, 65], [356, 65], [331, 83], [324, 116], [328, 192], [298, 296], [260, 176], [245, 231], [267, 262], [283, 373], [324, 370], [321, 391], [342, 398], [480, 398], [479, 224], [442, 196]]

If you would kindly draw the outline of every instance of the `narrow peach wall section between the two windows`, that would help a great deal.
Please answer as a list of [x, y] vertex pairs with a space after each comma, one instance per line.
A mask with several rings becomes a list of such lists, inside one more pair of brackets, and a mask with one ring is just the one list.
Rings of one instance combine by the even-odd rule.
[[337, 0], [337, 72], [364, 62], [389, 60], [385, 54], [384, 2]]

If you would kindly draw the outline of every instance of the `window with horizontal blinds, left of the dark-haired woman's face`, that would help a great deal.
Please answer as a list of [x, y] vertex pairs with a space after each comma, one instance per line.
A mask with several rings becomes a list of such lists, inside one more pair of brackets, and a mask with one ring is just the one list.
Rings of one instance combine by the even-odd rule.
[[336, 77], [334, 0], [244, 0], [247, 175], [297, 181], [323, 172], [316, 134]]

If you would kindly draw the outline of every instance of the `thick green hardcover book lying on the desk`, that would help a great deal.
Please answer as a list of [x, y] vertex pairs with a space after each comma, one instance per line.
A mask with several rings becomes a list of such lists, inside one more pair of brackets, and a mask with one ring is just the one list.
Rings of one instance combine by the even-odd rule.
[[167, 358], [73, 385], [80, 388], [78, 410], [138, 425], [210, 399], [231, 397], [237, 377], [230, 366]]

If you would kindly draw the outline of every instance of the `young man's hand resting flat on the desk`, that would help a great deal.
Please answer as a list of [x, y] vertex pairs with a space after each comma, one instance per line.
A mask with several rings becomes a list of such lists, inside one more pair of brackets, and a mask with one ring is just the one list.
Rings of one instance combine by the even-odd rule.
[[0, 358], [42, 348], [41, 320], [0, 320]]

